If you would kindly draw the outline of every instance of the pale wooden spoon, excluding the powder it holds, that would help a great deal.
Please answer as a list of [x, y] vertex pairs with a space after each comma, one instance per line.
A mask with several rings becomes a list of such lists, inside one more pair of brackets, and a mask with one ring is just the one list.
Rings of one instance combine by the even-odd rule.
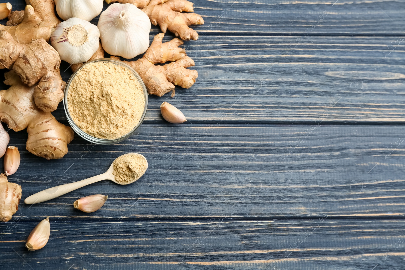
[[[134, 155], [136, 153], [129, 153], [129, 154], [125, 154], [125, 155]], [[139, 155], [140, 157], [142, 157], [143, 159], [145, 159], [146, 165], [147, 165], [147, 160], [146, 158], [141, 155], [141, 154], [136, 154]], [[124, 155], [123, 155], [124, 156]], [[118, 158], [118, 157], [117, 157]], [[33, 195], [31, 195], [30, 197], [26, 198], [24, 200], [24, 203], [26, 204], [37, 204], [38, 202], [45, 202], [47, 200], [51, 200], [54, 199], [56, 197], [62, 196], [63, 194], [66, 194], [70, 191], [73, 191], [75, 189], [79, 189], [81, 187], [90, 185], [92, 183], [96, 183], [98, 181], [102, 181], [102, 180], [111, 180], [117, 184], [120, 185], [127, 185], [130, 183], [134, 183], [136, 180], [138, 180], [145, 172], [142, 172], [141, 176], [139, 176], [136, 179], [132, 179], [130, 182], [127, 183], [118, 183], [117, 181], [115, 181], [115, 176], [113, 174], [114, 171], [114, 162], [111, 164], [110, 168], [107, 170], [107, 172], [104, 172], [103, 174], [99, 174], [81, 181], [77, 181], [77, 182], [73, 182], [73, 183], [69, 183], [69, 184], [65, 184], [65, 185], [59, 185], [56, 187], [51, 187], [49, 189], [45, 189], [43, 191], [39, 191]], [[146, 166], [147, 168], [147, 166]], [[146, 171], [146, 169], [145, 169]]]

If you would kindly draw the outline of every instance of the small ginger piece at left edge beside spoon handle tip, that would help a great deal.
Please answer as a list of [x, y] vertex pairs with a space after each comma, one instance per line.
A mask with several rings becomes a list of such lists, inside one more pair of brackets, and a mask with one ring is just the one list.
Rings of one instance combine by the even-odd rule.
[[21, 186], [10, 183], [4, 173], [0, 174], [0, 221], [6, 222], [13, 217], [20, 199]]

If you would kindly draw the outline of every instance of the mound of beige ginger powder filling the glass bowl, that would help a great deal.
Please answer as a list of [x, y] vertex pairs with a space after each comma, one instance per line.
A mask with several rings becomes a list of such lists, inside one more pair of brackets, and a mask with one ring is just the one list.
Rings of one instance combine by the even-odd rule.
[[72, 79], [67, 98], [76, 125], [102, 139], [128, 134], [145, 109], [143, 89], [134, 74], [111, 62], [83, 66]]

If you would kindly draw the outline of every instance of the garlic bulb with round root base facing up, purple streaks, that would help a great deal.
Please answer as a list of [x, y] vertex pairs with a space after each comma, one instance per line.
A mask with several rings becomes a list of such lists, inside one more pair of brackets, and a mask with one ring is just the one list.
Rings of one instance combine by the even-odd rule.
[[69, 64], [86, 62], [97, 51], [100, 32], [88, 21], [70, 18], [62, 21], [51, 35], [51, 45], [60, 59]]

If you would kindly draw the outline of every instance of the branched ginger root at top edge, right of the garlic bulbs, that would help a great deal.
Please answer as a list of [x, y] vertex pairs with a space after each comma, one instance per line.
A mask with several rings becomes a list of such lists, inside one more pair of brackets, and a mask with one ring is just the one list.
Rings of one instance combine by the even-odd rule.
[[200, 15], [182, 13], [194, 11], [193, 3], [187, 0], [106, 0], [106, 2], [134, 4], [148, 15], [153, 25], [159, 25], [163, 33], [169, 30], [182, 40], [197, 40], [197, 32], [188, 26], [204, 24], [204, 19]]

